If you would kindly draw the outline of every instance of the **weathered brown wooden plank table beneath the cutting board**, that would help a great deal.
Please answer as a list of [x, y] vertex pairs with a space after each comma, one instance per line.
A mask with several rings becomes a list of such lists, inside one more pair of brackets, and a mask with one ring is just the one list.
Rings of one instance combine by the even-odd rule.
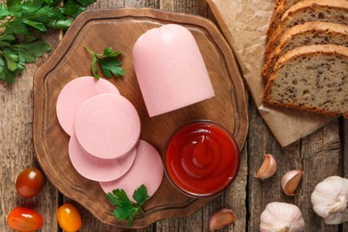
[[[185, 12], [200, 15], [214, 21], [208, 4], [203, 0], [98, 0], [90, 9], [115, 7], [150, 7], [169, 12]], [[56, 47], [62, 33], [49, 31], [48, 43]], [[15, 191], [15, 179], [21, 170], [29, 166], [39, 167], [34, 153], [33, 128], [33, 75], [43, 62], [30, 64], [12, 87], [0, 85], [0, 177], [2, 187], [0, 231], [10, 231], [5, 221], [7, 214], [16, 206], [35, 207], [45, 220], [41, 231], [60, 231], [55, 216], [56, 209], [70, 199], [61, 195], [46, 181], [43, 192], [33, 199], [24, 199]], [[140, 231], [208, 231], [213, 212], [220, 208], [230, 208], [236, 212], [238, 220], [224, 231], [257, 231], [261, 211], [272, 201], [298, 205], [306, 223], [305, 231], [346, 231], [348, 224], [327, 226], [311, 210], [311, 192], [319, 181], [331, 175], [348, 177], [348, 123], [342, 118], [333, 120], [324, 128], [302, 138], [292, 145], [281, 147], [269, 128], [261, 119], [253, 101], [249, 100], [249, 134], [242, 150], [242, 165], [236, 182], [225, 193], [211, 203], [186, 218], [158, 221]], [[261, 165], [264, 153], [272, 153], [278, 160], [278, 172], [273, 178], [261, 181], [254, 173]], [[295, 196], [286, 196], [280, 189], [280, 179], [287, 170], [304, 170], [301, 185]], [[91, 201], [96, 199], [91, 199]], [[74, 203], [74, 202], [72, 202]], [[104, 225], [87, 210], [77, 205], [83, 225], [80, 231], [131, 231]]]

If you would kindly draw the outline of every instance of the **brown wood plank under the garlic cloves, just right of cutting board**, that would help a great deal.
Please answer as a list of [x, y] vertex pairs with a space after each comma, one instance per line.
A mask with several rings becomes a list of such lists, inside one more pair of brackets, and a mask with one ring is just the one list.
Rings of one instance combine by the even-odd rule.
[[[280, 179], [286, 170], [301, 169], [299, 167], [299, 143], [282, 148], [273, 137], [259, 112], [251, 104], [249, 108], [250, 123], [248, 137], [249, 160], [249, 231], [257, 231], [260, 224], [260, 215], [270, 202], [292, 203], [294, 199], [286, 197], [280, 188]], [[254, 173], [260, 168], [264, 154], [272, 154], [278, 162], [276, 174], [264, 180], [254, 177]]]

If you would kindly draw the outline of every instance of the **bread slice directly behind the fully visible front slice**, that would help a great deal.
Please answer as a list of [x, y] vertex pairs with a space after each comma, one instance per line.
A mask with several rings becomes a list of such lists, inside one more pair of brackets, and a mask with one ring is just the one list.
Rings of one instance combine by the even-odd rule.
[[268, 79], [273, 72], [278, 57], [297, 46], [310, 45], [348, 46], [348, 26], [324, 21], [308, 21], [287, 29], [279, 39], [278, 46], [265, 62], [262, 75]]

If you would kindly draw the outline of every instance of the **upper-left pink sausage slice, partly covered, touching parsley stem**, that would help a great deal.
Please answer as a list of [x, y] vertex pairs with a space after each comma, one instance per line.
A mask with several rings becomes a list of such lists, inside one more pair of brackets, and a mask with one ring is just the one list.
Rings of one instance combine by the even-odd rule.
[[81, 77], [71, 80], [62, 88], [56, 104], [56, 114], [62, 129], [71, 135], [79, 106], [89, 97], [105, 93], [120, 95], [117, 87], [106, 79], [97, 80], [93, 77]]

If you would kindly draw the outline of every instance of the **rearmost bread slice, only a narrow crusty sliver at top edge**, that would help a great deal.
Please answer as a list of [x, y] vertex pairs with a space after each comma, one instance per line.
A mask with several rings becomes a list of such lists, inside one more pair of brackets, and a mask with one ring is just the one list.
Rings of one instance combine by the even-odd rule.
[[273, 32], [277, 29], [279, 22], [287, 9], [294, 4], [297, 4], [302, 0], [278, 0], [274, 5], [274, 12], [272, 18], [269, 21], [269, 27], [267, 29], [267, 37], [271, 37]]

